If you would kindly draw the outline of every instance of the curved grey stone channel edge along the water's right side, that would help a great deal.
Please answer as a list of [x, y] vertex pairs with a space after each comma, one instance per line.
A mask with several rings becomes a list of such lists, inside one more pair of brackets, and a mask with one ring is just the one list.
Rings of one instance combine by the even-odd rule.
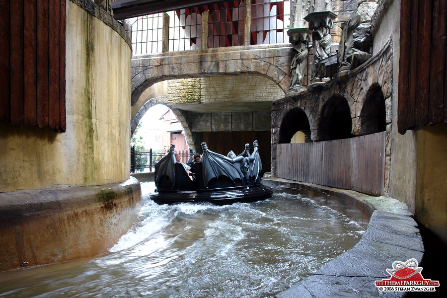
[[366, 228], [350, 250], [328, 262], [276, 298], [403, 297], [405, 292], [379, 292], [374, 282], [389, 279], [385, 269], [396, 260], [415, 258], [419, 263], [424, 245], [407, 206], [389, 197], [372, 197], [351, 190], [300, 183], [274, 177], [263, 184], [275, 192], [302, 195], [337, 210]]

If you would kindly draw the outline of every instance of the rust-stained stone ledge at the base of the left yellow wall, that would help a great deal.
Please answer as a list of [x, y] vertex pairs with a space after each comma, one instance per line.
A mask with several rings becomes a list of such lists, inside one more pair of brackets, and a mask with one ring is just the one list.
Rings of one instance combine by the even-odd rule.
[[106, 253], [143, 206], [140, 182], [0, 193], [0, 271]]

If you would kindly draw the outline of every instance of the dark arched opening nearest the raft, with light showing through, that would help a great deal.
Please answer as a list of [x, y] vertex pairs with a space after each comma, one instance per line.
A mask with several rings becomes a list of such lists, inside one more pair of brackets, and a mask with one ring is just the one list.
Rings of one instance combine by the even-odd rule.
[[279, 128], [278, 143], [290, 143], [297, 132], [304, 133], [305, 142], [311, 142], [310, 124], [306, 113], [301, 108], [293, 108], [286, 113]]

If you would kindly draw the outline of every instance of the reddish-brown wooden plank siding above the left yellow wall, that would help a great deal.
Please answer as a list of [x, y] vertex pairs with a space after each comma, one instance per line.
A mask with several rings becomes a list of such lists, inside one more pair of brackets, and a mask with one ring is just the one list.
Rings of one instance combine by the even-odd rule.
[[66, 0], [0, 0], [0, 121], [66, 130]]

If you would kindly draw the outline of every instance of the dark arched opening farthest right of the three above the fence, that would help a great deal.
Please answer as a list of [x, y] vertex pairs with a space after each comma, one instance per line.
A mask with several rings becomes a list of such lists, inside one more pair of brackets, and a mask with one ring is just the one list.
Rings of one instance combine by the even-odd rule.
[[382, 88], [373, 83], [360, 112], [361, 135], [386, 131], [386, 108]]

